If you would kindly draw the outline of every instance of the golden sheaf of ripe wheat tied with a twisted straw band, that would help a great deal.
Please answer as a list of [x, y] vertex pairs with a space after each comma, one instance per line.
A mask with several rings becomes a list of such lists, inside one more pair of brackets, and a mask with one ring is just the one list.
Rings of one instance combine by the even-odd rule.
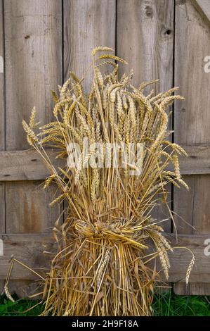
[[[169, 182], [188, 188], [178, 163], [186, 153], [167, 139], [167, 109], [183, 98], [172, 95], [176, 88], [145, 95], [145, 87], [156, 81], [133, 87], [132, 72], [119, 78], [117, 63], [125, 61], [110, 51], [92, 51], [88, 96], [82, 80], [70, 73], [60, 96], [53, 92], [55, 121], [39, 133], [35, 109], [29, 124], [23, 121], [29, 144], [51, 170], [45, 188], [55, 182], [60, 189], [51, 205], [67, 201], [65, 222], [53, 229], [58, 253], [46, 275], [44, 315], [148, 316], [157, 277], [148, 266], [151, 256], [159, 256], [169, 275], [171, 246], [151, 215], [157, 204], [166, 204]], [[101, 73], [105, 65], [113, 67], [111, 73]], [[53, 166], [48, 146], [67, 160], [63, 168]], [[167, 170], [170, 163], [173, 171]], [[148, 257], [150, 242], [157, 251]]]

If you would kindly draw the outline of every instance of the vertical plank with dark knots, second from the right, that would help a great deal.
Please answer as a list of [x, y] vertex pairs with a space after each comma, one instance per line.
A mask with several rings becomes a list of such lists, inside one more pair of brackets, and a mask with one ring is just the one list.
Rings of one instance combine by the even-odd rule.
[[[117, 1], [117, 55], [129, 62], [123, 70], [129, 73], [133, 68], [133, 85], [159, 79], [152, 86], [156, 93], [173, 85], [173, 6], [173, 0]], [[171, 186], [169, 192], [171, 207]], [[170, 218], [164, 206], [156, 208], [153, 216]], [[171, 232], [170, 221], [164, 229]]]

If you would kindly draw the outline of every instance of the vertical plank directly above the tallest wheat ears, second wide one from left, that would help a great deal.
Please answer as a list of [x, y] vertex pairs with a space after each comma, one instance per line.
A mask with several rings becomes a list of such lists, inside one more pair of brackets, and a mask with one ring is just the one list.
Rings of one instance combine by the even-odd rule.
[[[74, 71], [83, 77], [91, 64], [91, 50], [96, 46], [115, 48], [115, 0], [64, 0], [64, 78]], [[84, 89], [91, 85], [91, 72]]]

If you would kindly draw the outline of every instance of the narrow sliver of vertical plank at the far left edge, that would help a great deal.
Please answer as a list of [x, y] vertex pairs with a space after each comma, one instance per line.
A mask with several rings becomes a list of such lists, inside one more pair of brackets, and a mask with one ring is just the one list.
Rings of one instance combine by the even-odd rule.
[[[0, 0], [0, 151], [5, 149], [4, 127], [4, 7]], [[5, 232], [5, 184], [0, 183], [0, 232]]]

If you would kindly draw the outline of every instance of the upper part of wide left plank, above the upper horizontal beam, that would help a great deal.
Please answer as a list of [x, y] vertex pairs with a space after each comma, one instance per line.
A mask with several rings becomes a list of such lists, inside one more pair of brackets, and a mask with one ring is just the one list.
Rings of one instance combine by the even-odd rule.
[[51, 89], [62, 81], [60, 0], [7, 0], [5, 11], [6, 150], [27, 149], [22, 119], [36, 106], [52, 118]]

